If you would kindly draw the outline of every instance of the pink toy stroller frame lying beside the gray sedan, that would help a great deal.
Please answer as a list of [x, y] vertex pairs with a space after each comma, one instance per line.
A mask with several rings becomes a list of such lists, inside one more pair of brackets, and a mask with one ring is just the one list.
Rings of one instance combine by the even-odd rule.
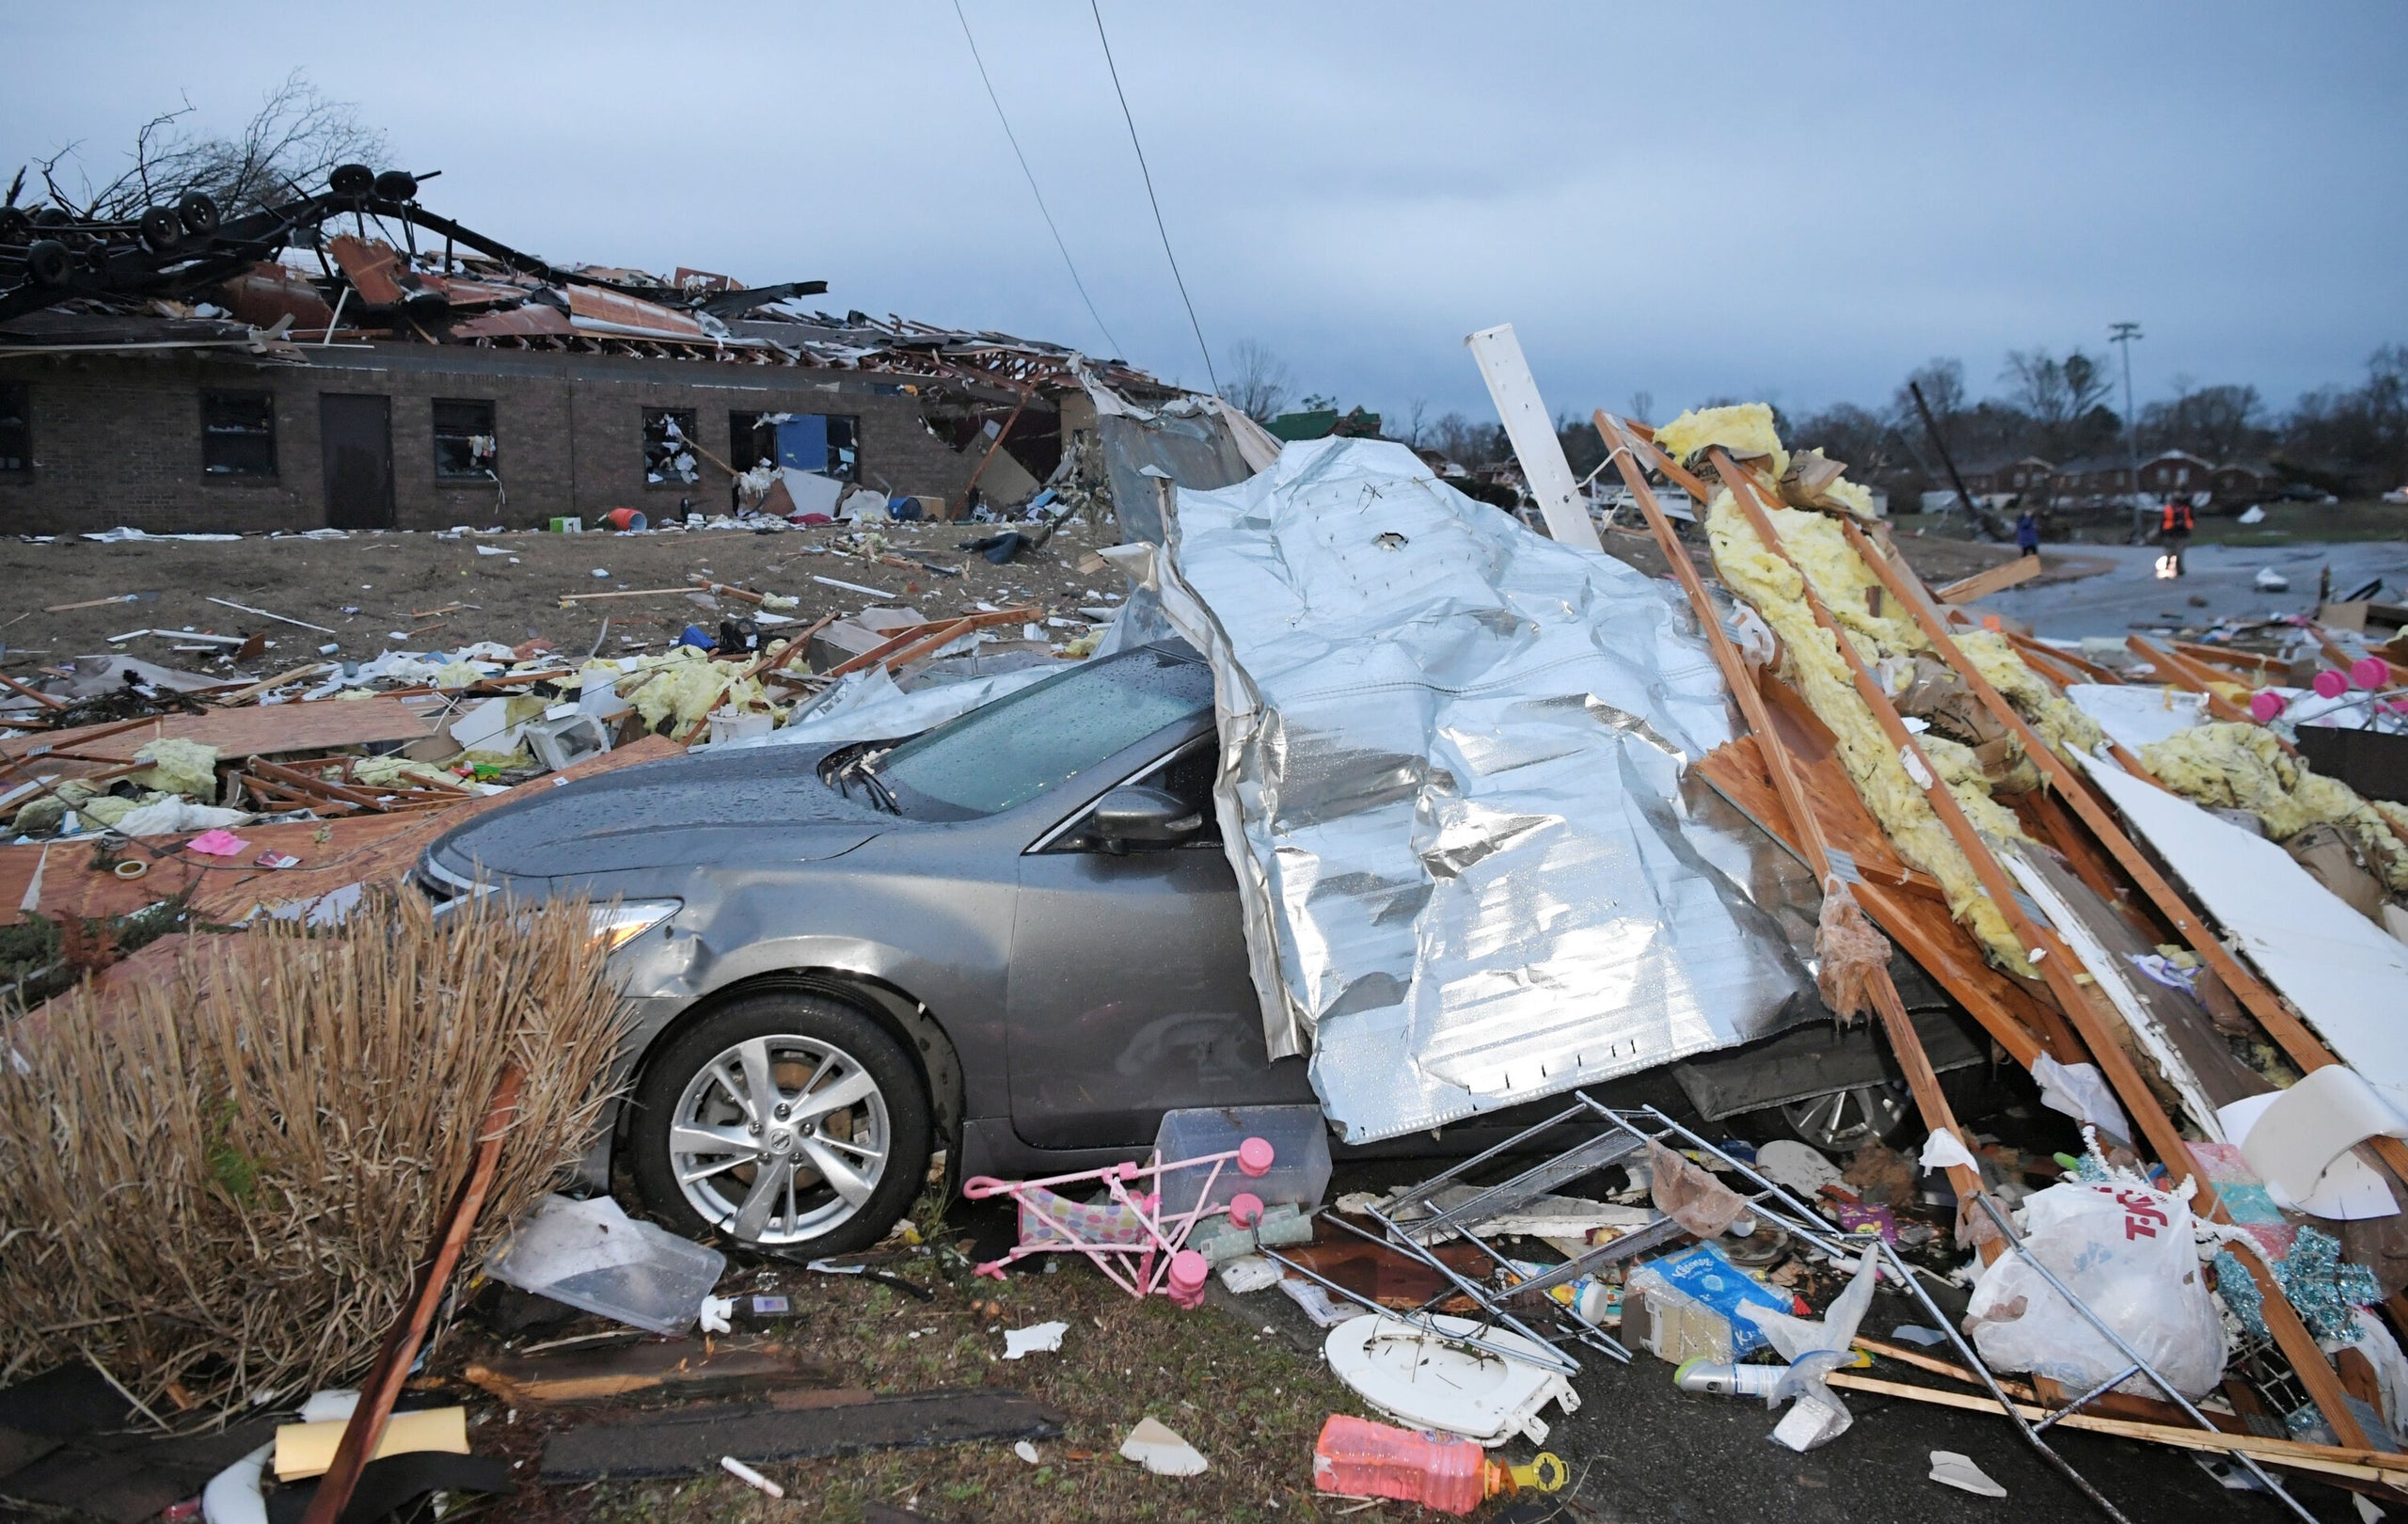
[[[961, 1194], [970, 1201], [1011, 1197], [1011, 1204], [1019, 1206], [1021, 1242], [1002, 1259], [980, 1264], [978, 1274], [1002, 1281], [1004, 1266], [1023, 1254], [1086, 1254], [1096, 1262], [1096, 1269], [1134, 1298], [1158, 1290], [1180, 1307], [1197, 1307], [1204, 1303], [1204, 1281], [1211, 1276], [1211, 1266], [1204, 1262], [1204, 1254], [1187, 1247], [1187, 1235], [1194, 1233], [1194, 1225], [1223, 1213], [1240, 1228], [1252, 1228], [1262, 1221], [1262, 1197], [1252, 1192], [1238, 1192], [1228, 1199], [1228, 1206], [1209, 1206], [1221, 1170], [1233, 1160], [1247, 1180], [1269, 1175], [1269, 1139], [1245, 1139], [1226, 1153], [1204, 1153], [1168, 1165], [1156, 1153], [1144, 1165], [1105, 1165], [1076, 1175], [1052, 1175], [1050, 1180], [995, 1180], [992, 1175], [963, 1180]], [[1194, 1209], [1165, 1218], [1163, 1175], [1178, 1170], [1211, 1172], [1197, 1192]], [[1132, 1192], [1132, 1180], [1146, 1180], [1146, 1189], [1141, 1194]], [[1081, 1204], [1057, 1189], [1081, 1182], [1103, 1185], [1110, 1199]]]

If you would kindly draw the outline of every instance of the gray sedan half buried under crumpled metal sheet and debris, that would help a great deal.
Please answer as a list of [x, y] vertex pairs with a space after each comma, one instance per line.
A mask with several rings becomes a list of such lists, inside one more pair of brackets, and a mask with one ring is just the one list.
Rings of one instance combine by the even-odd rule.
[[[590, 1185], [624, 1163], [684, 1233], [840, 1254], [939, 1146], [966, 1175], [1064, 1172], [1137, 1156], [1170, 1107], [1312, 1100], [1305, 1062], [1264, 1052], [1214, 763], [1211, 672], [1149, 645], [901, 744], [544, 790], [443, 835], [417, 879], [609, 905], [633, 1088]], [[1813, 1042], [1806, 1086], [1780, 1079], [1796, 1062], [1710, 1083], [1816, 1117], [1854, 1095], [1849, 1127], [1881, 1132], [1905, 1105], [1857, 1045]]]

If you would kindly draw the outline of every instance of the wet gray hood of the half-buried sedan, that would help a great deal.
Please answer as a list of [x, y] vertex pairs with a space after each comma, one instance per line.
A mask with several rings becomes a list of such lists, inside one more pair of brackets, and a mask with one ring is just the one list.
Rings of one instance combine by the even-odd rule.
[[436, 840], [448, 872], [568, 879], [669, 864], [809, 862], [903, 826], [819, 780], [826, 746], [669, 756], [506, 804]]

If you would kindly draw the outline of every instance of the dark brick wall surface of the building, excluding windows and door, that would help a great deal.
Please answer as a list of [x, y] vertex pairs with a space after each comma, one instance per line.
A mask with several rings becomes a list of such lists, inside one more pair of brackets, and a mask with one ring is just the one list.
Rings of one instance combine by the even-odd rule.
[[[17, 356], [0, 380], [31, 390], [34, 469], [0, 472], [0, 532], [75, 534], [135, 525], [157, 534], [313, 530], [325, 522], [318, 397], [390, 397], [393, 503], [402, 530], [530, 527], [609, 508], [650, 518], [730, 506], [708, 460], [694, 484], [643, 479], [643, 412], [696, 414], [696, 441], [732, 465], [730, 412], [860, 419], [860, 477], [898, 494], [961, 501], [980, 450], [956, 453], [920, 421], [920, 400], [879, 376], [715, 361], [648, 361], [426, 344], [311, 352], [306, 366], [229, 356]], [[200, 395], [265, 390], [277, 414], [275, 477], [202, 472]], [[433, 400], [494, 402], [501, 484], [438, 482]]]

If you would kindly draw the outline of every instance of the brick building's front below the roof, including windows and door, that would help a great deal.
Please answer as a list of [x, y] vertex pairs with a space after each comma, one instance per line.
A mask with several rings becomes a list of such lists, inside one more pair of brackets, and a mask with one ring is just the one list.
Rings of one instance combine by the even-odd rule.
[[[679, 501], [725, 513], [732, 479], [713, 457], [754, 465], [751, 419], [778, 412], [828, 417], [831, 436], [850, 436], [848, 450], [831, 445], [828, 474], [898, 496], [961, 503], [982, 455], [939, 438], [925, 378], [450, 344], [301, 349], [303, 364], [0, 359], [0, 419], [22, 419], [14, 441], [0, 438], [0, 532], [525, 527], [609, 508], [657, 520]], [[694, 482], [648, 472], [662, 414], [701, 445]], [[1035, 443], [1033, 424], [1014, 443]]]

